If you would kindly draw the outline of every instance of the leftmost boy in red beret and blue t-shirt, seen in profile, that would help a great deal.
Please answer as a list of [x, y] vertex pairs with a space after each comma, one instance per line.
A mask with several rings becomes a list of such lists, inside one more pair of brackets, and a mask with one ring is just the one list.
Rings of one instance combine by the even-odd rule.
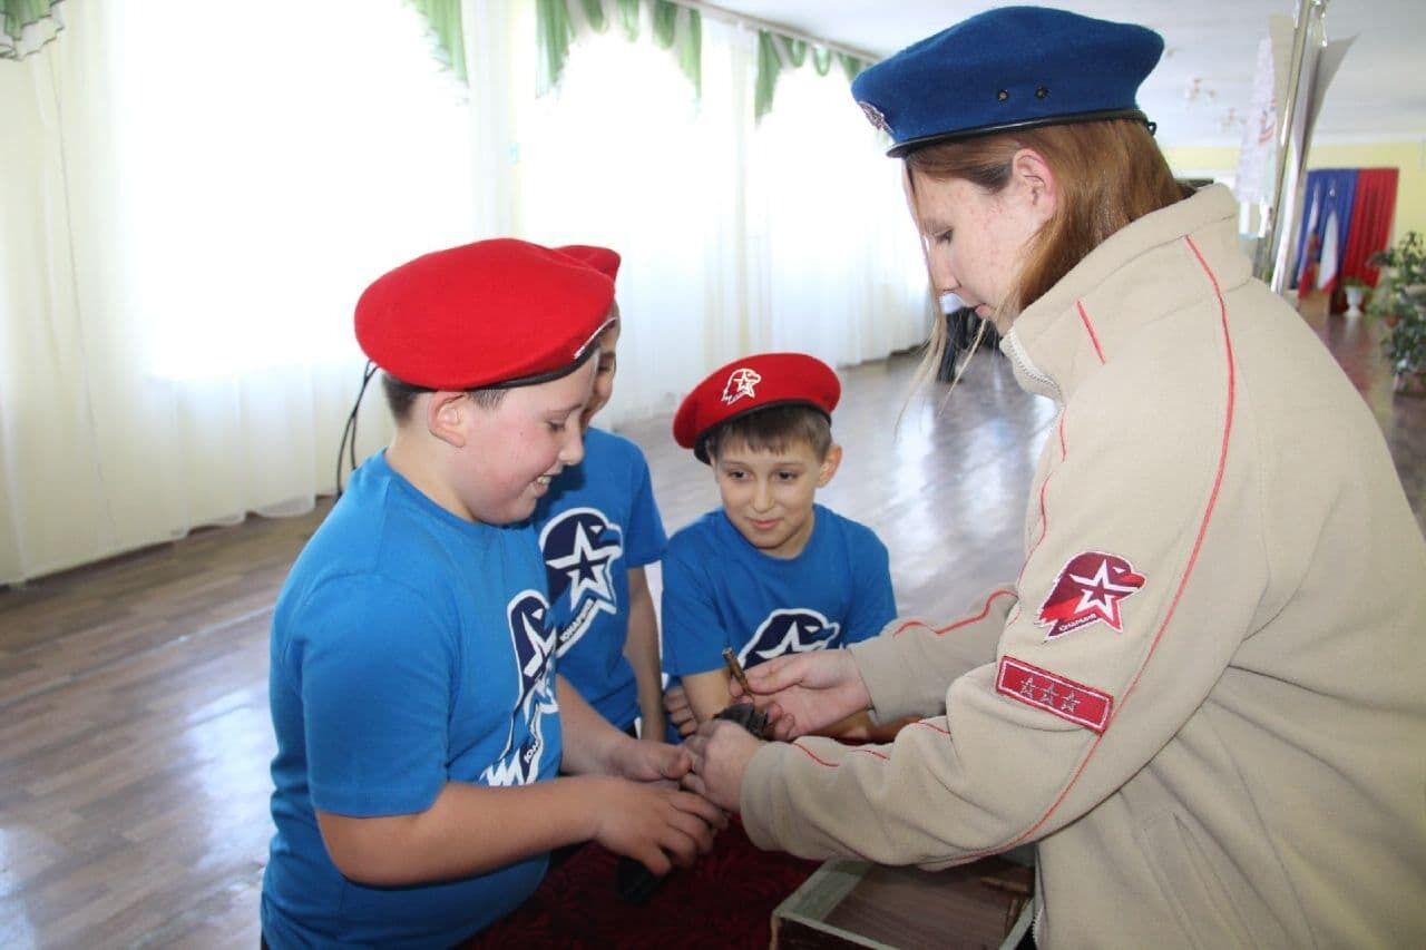
[[[356, 304], [391, 444], [352, 475], [272, 620], [272, 947], [448, 947], [595, 839], [662, 873], [722, 813], [556, 685], [539, 498], [580, 461], [613, 285], [548, 248], [416, 258]], [[578, 773], [556, 777], [558, 773]]]

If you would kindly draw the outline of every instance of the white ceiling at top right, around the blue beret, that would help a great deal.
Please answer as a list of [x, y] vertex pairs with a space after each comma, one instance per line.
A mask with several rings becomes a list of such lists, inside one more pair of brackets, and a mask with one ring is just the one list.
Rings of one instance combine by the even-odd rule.
[[[994, 4], [983, 0], [713, 0], [702, 4], [886, 57]], [[1165, 145], [1238, 145], [1268, 17], [1296, 0], [1082, 0], [1041, 6], [1141, 23], [1164, 58], [1139, 107]], [[1313, 141], [1426, 140], [1426, 0], [1330, 0], [1328, 40], [1356, 34], [1328, 88]]]

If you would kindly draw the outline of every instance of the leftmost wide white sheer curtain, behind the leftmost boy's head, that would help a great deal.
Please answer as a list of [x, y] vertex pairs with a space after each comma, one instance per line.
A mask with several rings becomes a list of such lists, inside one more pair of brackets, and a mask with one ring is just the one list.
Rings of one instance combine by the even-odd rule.
[[0, 67], [0, 582], [311, 508], [356, 295], [473, 237], [463, 90], [421, 17], [93, 0]]

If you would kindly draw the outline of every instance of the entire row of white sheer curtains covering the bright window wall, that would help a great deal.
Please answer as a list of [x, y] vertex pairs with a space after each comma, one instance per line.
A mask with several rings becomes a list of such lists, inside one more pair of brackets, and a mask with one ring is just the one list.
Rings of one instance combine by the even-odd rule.
[[[529, 0], [465, 0], [471, 88], [405, 0], [88, 0], [0, 63], [0, 583], [332, 491], [361, 290], [478, 237], [623, 252], [606, 422], [743, 352], [913, 345], [897, 163], [838, 76], [704, 17], [703, 96], [617, 30], [533, 97]], [[649, 31], [645, 31], [647, 37]], [[368, 394], [358, 456], [389, 434]]]

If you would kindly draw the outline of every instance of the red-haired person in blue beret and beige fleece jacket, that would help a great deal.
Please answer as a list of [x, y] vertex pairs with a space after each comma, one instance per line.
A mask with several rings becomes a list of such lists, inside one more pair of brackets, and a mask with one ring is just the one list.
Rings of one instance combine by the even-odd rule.
[[[1010, 7], [853, 86], [934, 290], [1061, 414], [1012, 583], [749, 670], [791, 742], [707, 723], [689, 783], [804, 857], [1034, 843], [1054, 950], [1426, 946], [1426, 542], [1232, 195], [1174, 183], [1135, 106], [1161, 51]], [[863, 709], [928, 717], [807, 735]]]

